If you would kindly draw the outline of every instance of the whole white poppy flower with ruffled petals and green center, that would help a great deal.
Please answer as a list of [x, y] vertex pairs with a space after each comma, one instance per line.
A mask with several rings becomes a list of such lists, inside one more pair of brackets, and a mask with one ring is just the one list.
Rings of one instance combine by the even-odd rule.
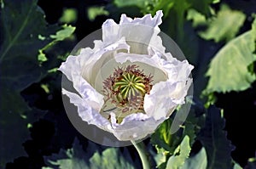
[[138, 140], [184, 103], [192, 65], [165, 52], [158, 36], [162, 12], [119, 24], [106, 20], [102, 41], [70, 55], [59, 70], [77, 93], [62, 89], [88, 124], [112, 132], [121, 141]]

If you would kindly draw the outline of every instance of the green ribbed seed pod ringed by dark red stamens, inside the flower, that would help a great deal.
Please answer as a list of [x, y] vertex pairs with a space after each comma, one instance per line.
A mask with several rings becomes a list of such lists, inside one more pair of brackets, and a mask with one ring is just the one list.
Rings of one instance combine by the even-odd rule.
[[113, 74], [103, 81], [102, 93], [105, 104], [102, 115], [110, 119], [110, 112], [116, 115], [117, 122], [121, 122], [126, 115], [143, 113], [143, 102], [149, 93], [153, 76], [146, 76], [138, 65], [128, 65], [116, 68]]

